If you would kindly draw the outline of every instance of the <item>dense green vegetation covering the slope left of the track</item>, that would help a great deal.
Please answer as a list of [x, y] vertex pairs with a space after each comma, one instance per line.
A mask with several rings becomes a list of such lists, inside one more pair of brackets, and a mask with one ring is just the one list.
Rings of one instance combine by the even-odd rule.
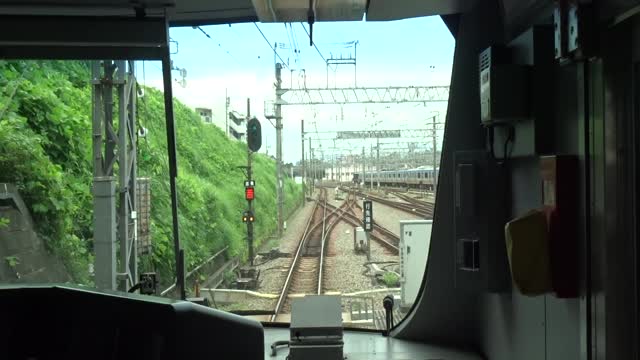
[[[74, 281], [91, 284], [91, 87], [87, 63], [0, 61], [0, 182], [16, 183], [48, 248]], [[151, 178], [153, 253], [143, 271], [174, 273], [164, 102], [146, 88], [138, 98], [138, 123], [149, 130], [138, 141], [138, 174]], [[191, 269], [228, 245], [228, 256], [246, 257], [244, 174], [246, 145], [226, 138], [175, 100], [178, 137], [180, 234]], [[275, 163], [254, 156], [255, 232], [258, 242], [275, 229]], [[285, 184], [288, 212], [301, 199]]]

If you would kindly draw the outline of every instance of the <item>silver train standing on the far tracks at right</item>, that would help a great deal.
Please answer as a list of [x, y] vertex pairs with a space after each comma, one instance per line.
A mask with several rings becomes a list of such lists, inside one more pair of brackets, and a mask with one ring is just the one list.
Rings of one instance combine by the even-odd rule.
[[403, 169], [403, 170], [381, 170], [381, 171], [367, 171], [355, 172], [353, 174], [352, 182], [354, 184], [361, 184], [363, 182], [373, 183], [377, 186], [389, 186], [389, 187], [405, 187], [405, 188], [419, 188], [419, 189], [433, 189], [433, 184], [437, 181], [439, 169], [419, 167], [416, 169]]

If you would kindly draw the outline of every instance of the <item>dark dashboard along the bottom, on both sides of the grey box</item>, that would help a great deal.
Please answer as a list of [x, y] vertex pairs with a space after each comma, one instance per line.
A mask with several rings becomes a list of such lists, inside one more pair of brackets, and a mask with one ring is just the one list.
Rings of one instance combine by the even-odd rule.
[[[287, 327], [186, 301], [67, 285], [0, 286], [3, 359], [286, 359]], [[439, 346], [345, 330], [349, 360], [480, 360]]]

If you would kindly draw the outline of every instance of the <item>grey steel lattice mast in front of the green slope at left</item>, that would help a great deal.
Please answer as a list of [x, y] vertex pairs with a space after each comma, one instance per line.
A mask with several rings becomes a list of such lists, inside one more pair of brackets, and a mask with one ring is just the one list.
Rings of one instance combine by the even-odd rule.
[[[133, 62], [94, 61], [92, 85], [96, 286], [127, 291], [138, 277], [134, 226], [137, 174]], [[114, 116], [114, 91], [117, 117]], [[116, 261], [118, 250], [120, 259]]]

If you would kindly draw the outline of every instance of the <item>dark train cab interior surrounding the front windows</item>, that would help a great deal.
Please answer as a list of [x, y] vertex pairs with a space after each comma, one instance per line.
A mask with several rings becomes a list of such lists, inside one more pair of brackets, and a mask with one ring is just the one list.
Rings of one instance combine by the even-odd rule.
[[161, 61], [175, 182], [169, 28], [422, 16], [455, 52], [440, 163], [415, 172], [435, 174], [438, 202], [405, 319], [343, 330], [331, 303], [309, 302], [304, 321], [274, 325], [14, 285], [0, 287], [0, 358], [639, 359], [640, 1], [0, 0], [0, 59]]

